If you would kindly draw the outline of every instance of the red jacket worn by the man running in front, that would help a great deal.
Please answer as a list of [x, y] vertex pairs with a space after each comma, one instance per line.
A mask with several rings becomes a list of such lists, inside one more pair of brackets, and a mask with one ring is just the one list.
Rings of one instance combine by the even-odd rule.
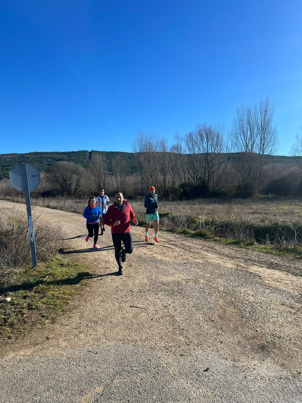
[[[103, 216], [103, 223], [111, 226], [112, 234], [124, 234], [130, 231], [130, 219], [132, 221], [135, 215], [130, 204], [124, 202], [124, 205], [125, 207], [120, 211], [114, 202]], [[114, 226], [113, 223], [116, 221], [120, 221], [120, 224]]]

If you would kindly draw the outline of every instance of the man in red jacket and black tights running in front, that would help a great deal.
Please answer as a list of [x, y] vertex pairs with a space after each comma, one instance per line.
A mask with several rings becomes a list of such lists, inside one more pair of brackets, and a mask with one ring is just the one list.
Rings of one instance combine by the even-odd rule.
[[[103, 218], [103, 223], [111, 226], [118, 274], [123, 274], [122, 262], [126, 262], [126, 253], [133, 251], [130, 219], [134, 225], [138, 224], [130, 204], [125, 202], [123, 193], [118, 190], [114, 193], [114, 204], [108, 208]], [[122, 241], [124, 248], [122, 248]]]

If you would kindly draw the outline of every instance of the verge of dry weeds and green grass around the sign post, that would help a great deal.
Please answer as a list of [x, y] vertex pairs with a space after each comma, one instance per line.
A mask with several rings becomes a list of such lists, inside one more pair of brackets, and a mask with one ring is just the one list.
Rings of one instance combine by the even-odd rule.
[[[36, 217], [38, 265], [32, 268], [28, 225], [17, 213], [0, 215], [0, 345], [52, 321], [89, 278], [89, 267], [58, 255], [56, 227]], [[51, 237], [48, 234], [52, 234]]]

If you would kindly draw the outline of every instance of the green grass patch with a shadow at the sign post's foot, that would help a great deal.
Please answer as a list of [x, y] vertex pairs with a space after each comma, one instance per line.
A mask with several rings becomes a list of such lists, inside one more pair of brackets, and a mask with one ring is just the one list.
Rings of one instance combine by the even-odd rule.
[[12, 339], [24, 330], [50, 322], [91, 276], [89, 267], [62, 257], [25, 268], [0, 289], [0, 339]]

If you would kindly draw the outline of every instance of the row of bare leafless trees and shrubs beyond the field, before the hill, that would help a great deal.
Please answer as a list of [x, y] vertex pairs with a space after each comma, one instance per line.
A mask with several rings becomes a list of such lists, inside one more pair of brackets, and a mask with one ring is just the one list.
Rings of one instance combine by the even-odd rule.
[[[36, 192], [77, 197], [102, 187], [108, 194], [120, 189], [128, 197], [143, 197], [153, 185], [165, 199], [259, 193], [300, 196], [302, 128], [291, 150], [294, 163], [274, 162], [279, 147], [274, 113], [274, 104], [266, 98], [238, 108], [229, 129], [199, 124], [184, 136], [176, 133], [171, 145], [165, 137], [139, 131], [131, 145], [134, 170], [122, 154], [108, 160], [104, 153], [93, 152], [87, 168], [68, 161], [54, 164], [42, 173]], [[5, 187], [5, 180], [0, 190], [1, 186]]]

